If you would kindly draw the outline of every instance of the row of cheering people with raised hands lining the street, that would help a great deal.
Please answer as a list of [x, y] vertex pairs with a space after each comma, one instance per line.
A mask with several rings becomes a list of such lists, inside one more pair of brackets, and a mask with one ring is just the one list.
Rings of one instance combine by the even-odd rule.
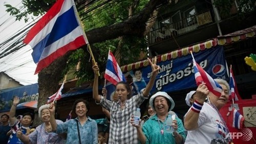
[[[55, 104], [39, 107], [38, 116], [42, 124], [32, 128], [34, 115], [24, 113], [15, 117], [19, 98], [13, 99], [9, 115], [1, 116], [1, 143], [230, 143], [228, 128], [219, 110], [228, 101], [229, 85], [223, 79], [215, 79], [222, 87], [220, 97], [209, 92], [205, 83], [196, 91], [187, 94], [185, 102], [190, 107], [179, 119], [173, 110], [175, 102], [167, 93], [157, 92], [150, 96], [160, 67], [156, 60], [148, 59], [152, 67], [150, 81], [139, 94], [132, 96], [129, 83], [120, 81], [116, 85], [113, 101], [106, 99], [106, 90], [98, 93], [99, 67], [93, 66], [93, 98], [102, 106], [109, 120], [107, 131], [98, 131], [95, 120], [87, 116], [90, 104], [77, 99], [73, 104], [75, 119], [62, 122], [55, 119]], [[134, 113], [148, 99], [147, 114], [135, 124]], [[170, 125], [170, 126], [169, 126]]]

